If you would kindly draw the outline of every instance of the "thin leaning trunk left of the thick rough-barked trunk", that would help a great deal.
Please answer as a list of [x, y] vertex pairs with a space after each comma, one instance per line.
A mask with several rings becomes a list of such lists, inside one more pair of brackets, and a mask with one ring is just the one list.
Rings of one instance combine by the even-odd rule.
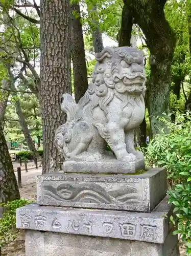
[[26, 142], [29, 146], [29, 149], [30, 149], [30, 151], [32, 151], [34, 153], [34, 155], [37, 158], [39, 158], [40, 156], [39, 156], [38, 151], [36, 150], [35, 144], [34, 144], [32, 138], [31, 138], [31, 133], [28, 129], [28, 125], [27, 125], [27, 122], [25, 120], [25, 117], [23, 116], [20, 101], [18, 99], [16, 99], [16, 101], [15, 101], [15, 109], [16, 109], [16, 113], [17, 113], [18, 118], [19, 118], [19, 123], [20, 123], [20, 126], [21, 126], [22, 133], [25, 136], [25, 139], [26, 139]]

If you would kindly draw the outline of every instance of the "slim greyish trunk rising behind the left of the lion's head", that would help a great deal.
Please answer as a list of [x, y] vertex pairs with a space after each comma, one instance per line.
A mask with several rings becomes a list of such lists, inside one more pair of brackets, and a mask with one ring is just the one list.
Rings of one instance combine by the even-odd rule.
[[[92, 13], [96, 13], [97, 15], [92, 15]], [[93, 6], [91, 9], [88, 8], [88, 14], [90, 17], [90, 23], [91, 23], [91, 31], [92, 31], [92, 37], [93, 37], [93, 48], [94, 52], [98, 53], [101, 52], [104, 49], [103, 40], [102, 40], [102, 33], [100, 32], [99, 28], [99, 20], [95, 20], [92, 18], [92, 16], [98, 17], [98, 12], [96, 6]]]

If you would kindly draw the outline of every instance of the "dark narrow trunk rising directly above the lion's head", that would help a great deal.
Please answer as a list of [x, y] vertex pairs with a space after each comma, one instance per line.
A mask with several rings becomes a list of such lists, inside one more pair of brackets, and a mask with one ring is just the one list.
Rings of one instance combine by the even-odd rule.
[[117, 35], [118, 46], [131, 46], [131, 33], [133, 26], [133, 16], [127, 5], [123, 6], [121, 29]]

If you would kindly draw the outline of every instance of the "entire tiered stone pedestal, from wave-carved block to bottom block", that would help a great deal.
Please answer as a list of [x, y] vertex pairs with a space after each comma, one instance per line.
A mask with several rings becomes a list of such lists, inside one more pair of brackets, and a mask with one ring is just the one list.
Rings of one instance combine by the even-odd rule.
[[26, 256], [179, 256], [164, 169], [140, 175], [37, 178], [37, 204], [16, 211]]

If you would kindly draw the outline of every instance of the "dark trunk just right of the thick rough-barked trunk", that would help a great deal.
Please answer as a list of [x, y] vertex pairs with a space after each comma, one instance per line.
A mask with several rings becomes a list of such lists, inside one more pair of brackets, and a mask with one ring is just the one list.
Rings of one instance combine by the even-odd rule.
[[[76, 17], [73, 15], [78, 15]], [[85, 59], [84, 39], [80, 21], [79, 4], [71, 5], [71, 58], [74, 70], [74, 90], [76, 103], [84, 96], [87, 88], [87, 68]]]

